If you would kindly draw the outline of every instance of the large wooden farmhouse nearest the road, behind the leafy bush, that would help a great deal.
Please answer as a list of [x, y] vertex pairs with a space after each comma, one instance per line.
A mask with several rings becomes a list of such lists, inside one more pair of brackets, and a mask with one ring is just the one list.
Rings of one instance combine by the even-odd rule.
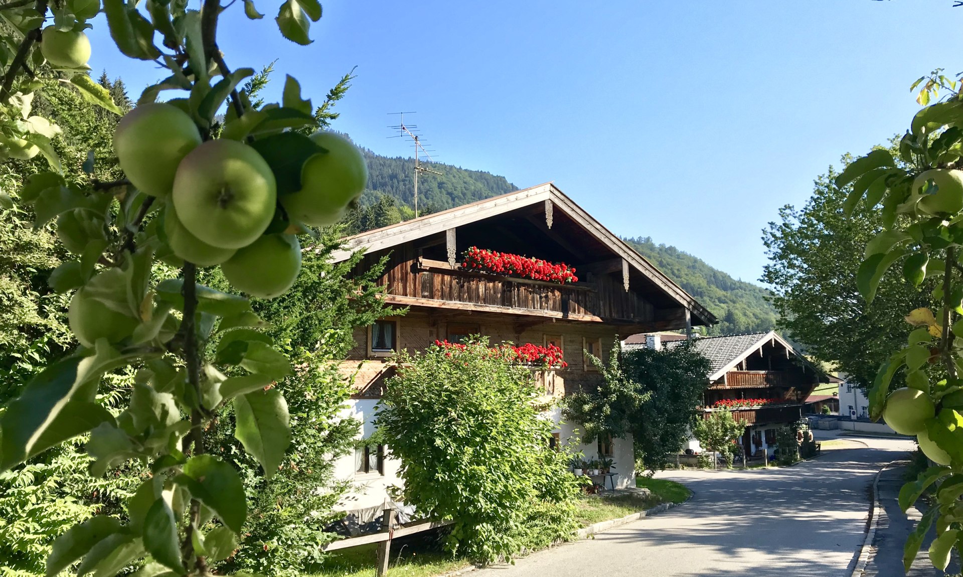
[[[499, 275], [463, 267], [466, 250], [489, 249], [565, 263], [577, 281], [560, 284]], [[374, 432], [372, 418], [385, 380], [395, 374], [396, 351], [423, 350], [435, 340], [456, 342], [468, 335], [496, 344], [554, 344], [567, 368], [536, 371], [546, 396], [563, 396], [595, 386], [601, 375], [586, 361], [588, 351], [608, 361], [620, 335], [709, 325], [715, 317], [675, 282], [622, 242], [552, 184], [481, 200], [412, 221], [371, 230], [346, 240], [333, 255], [347, 259], [365, 249], [358, 265], [370, 267], [389, 257], [379, 283], [385, 300], [403, 316], [388, 317], [355, 330], [356, 347], [343, 371], [354, 377], [357, 393], [351, 414], [364, 423], [361, 437]], [[556, 442], [573, 433], [560, 423]], [[584, 448], [586, 458], [612, 456], [615, 485], [635, 484], [632, 439], [600, 439]], [[355, 492], [344, 507], [376, 508], [388, 485], [398, 485], [397, 464], [384, 448], [359, 448], [339, 463], [342, 478], [353, 478]]]

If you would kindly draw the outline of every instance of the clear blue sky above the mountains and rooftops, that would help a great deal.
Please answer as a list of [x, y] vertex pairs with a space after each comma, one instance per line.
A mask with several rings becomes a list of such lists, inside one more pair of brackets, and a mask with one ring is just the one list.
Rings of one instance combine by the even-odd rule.
[[[613, 232], [743, 280], [761, 274], [760, 231], [780, 206], [802, 204], [846, 151], [901, 132], [913, 80], [963, 70], [951, 0], [329, 0], [307, 47], [277, 33], [277, 3], [255, 3], [263, 20], [241, 2], [222, 16], [228, 65], [276, 59], [272, 92], [290, 73], [317, 102], [357, 66], [334, 125], [357, 143], [409, 154], [386, 138], [387, 113], [417, 111], [442, 162], [555, 181]], [[136, 99], [161, 71], [93, 24], [91, 66]]]

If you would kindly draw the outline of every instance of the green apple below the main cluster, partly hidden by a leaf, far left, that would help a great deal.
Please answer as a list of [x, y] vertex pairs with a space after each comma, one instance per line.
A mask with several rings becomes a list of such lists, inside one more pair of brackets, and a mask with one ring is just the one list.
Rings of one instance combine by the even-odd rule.
[[[99, 279], [103, 281], [101, 284], [116, 285], [121, 289], [125, 286], [123, 272], [119, 269], [108, 269], [100, 275], [109, 276]], [[103, 302], [92, 299], [91, 289], [87, 287], [77, 289], [70, 299], [67, 321], [74, 336], [85, 347], [92, 347], [99, 338], [116, 343], [130, 336], [134, 328], [140, 325], [140, 321], [135, 317], [117, 312]]]

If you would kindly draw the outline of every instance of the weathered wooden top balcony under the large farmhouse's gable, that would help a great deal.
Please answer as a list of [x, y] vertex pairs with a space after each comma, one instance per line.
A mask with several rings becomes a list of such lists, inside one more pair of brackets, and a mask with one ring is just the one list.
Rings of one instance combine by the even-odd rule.
[[424, 258], [415, 261], [413, 268], [388, 272], [387, 302], [588, 322], [640, 324], [656, 318], [651, 303], [608, 277], [558, 284], [471, 273]]

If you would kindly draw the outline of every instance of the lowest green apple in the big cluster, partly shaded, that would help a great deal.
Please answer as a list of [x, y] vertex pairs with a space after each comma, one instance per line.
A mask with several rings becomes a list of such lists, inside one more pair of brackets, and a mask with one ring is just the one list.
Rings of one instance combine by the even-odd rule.
[[231, 286], [259, 299], [273, 299], [295, 283], [300, 243], [293, 234], [266, 234], [221, 265]]

